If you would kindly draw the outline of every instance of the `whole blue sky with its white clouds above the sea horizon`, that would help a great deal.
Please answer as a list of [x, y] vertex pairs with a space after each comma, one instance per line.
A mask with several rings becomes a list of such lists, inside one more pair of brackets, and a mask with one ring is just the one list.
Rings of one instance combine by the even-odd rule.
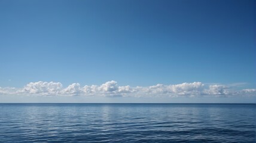
[[0, 102], [256, 102], [251, 0], [0, 0]]

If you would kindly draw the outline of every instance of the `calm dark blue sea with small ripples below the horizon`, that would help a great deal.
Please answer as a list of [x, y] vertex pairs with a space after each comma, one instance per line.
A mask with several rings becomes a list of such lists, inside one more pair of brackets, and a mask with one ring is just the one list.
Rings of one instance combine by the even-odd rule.
[[0, 104], [0, 142], [255, 142], [255, 104]]

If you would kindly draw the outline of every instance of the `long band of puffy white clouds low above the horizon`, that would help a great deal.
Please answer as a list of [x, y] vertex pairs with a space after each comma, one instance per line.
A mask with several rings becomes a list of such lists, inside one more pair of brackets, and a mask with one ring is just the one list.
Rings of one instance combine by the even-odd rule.
[[23, 88], [1, 88], [0, 95], [42, 95], [42, 96], [91, 96], [91, 97], [228, 97], [255, 96], [256, 89], [236, 90], [233, 86], [202, 82], [181, 83], [176, 85], [157, 84], [153, 86], [118, 86], [111, 80], [102, 85], [72, 83], [63, 88], [60, 82], [31, 82]]

